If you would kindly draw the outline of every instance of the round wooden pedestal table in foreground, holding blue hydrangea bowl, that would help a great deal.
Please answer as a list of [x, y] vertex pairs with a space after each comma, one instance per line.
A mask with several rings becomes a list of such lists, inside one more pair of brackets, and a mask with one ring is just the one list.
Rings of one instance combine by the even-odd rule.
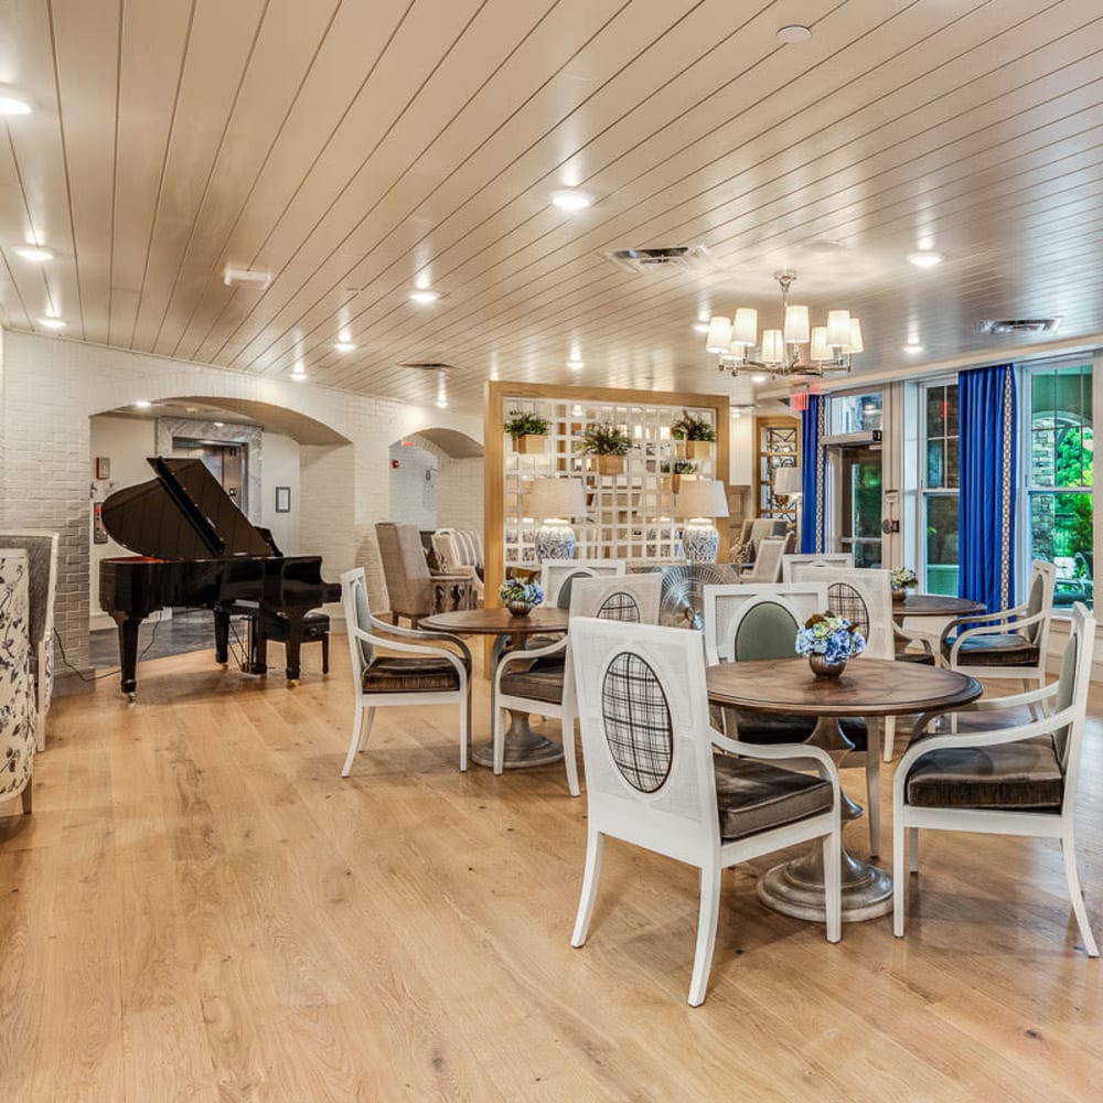
[[[814, 716], [808, 743], [822, 747], [836, 765], [854, 743], [838, 726], [842, 716], [900, 716], [955, 708], [981, 696], [975, 678], [934, 666], [884, 658], [852, 658], [842, 677], [815, 678], [806, 658], [770, 658], [722, 663], [705, 672], [713, 705]], [[863, 808], [844, 796], [843, 820], [857, 820]], [[774, 911], [797, 919], [824, 920], [823, 847], [816, 843], [801, 858], [774, 866], [758, 884], [759, 899]], [[843, 919], [874, 919], [892, 910], [892, 878], [884, 869], [853, 858], [843, 849]]]

